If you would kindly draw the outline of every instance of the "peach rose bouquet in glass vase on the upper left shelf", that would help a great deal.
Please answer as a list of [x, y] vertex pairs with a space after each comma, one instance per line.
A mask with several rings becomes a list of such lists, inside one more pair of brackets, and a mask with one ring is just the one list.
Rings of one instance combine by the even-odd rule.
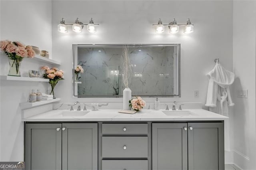
[[33, 58], [36, 54], [31, 46], [26, 46], [18, 41], [0, 41], [0, 49], [4, 51], [9, 59], [10, 71], [8, 75], [15, 76], [20, 76], [20, 64], [24, 57]]

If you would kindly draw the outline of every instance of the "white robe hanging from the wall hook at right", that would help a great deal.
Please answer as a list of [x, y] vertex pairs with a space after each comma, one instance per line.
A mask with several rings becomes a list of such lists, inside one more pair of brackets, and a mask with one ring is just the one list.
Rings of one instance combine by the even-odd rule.
[[[228, 117], [228, 106], [234, 106], [229, 86], [234, 83], [235, 74], [216, 63], [207, 76], [209, 84], [205, 106], [208, 106], [212, 112]], [[224, 129], [225, 150], [230, 151], [229, 120], [225, 121]]]

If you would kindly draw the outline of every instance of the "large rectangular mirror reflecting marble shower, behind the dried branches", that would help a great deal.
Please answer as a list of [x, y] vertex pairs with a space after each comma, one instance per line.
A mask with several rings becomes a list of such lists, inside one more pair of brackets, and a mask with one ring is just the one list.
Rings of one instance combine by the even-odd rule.
[[[123, 47], [73, 44], [73, 95], [122, 97]], [[180, 97], [180, 44], [129, 45], [129, 57], [133, 96]], [[84, 73], [75, 74], [78, 65]]]

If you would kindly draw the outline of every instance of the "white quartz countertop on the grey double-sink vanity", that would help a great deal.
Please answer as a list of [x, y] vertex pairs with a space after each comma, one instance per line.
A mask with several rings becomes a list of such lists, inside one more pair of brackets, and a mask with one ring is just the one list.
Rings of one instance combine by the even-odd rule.
[[[24, 118], [22, 121], [223, 121], [228, 119], [228, 117], [204, 109], [184, 109], [183, 111], [175, 111], [175, 114], [171, 116], [164, 114], [162, 112], [164, 110], [143, 109], [135, 114], [118, 113], [118, 111], [119, 109], [102, 109], [90, 111], [81, 116], [78, 112], [82, 113], [83, 111], [70, 111], [69, 114], [68, 110], [57, 109]], [[63, 112], [68, 113], [68, 115], [63, 115]], [[78, 113], [78, 115], [74, 116], [72, 112]], [[186, 112], [191, 114], [182, 114]]]

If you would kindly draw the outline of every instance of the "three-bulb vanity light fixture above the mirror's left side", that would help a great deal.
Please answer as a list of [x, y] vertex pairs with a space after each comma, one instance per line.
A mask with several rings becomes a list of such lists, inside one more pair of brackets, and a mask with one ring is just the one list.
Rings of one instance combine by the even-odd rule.
[[96, 32], [96, 25], [100, 25], [100, 24], [94, 24], [92, 18], [89, 24], [83, 24], [82, 22], [79, 21], [78, 18], [76, 18], [74, 24], [65, 24], [65, 20], [64, 18], [62, 18], [62, 20], [60, 20], [60, 24], [58, 24], [58, 32], [67, 33], [68, 32], [67, 26], [72, 26], [72, 30], [74, 32], [80, 33], [82, 32], [82, 29], [84, 28], [84, 26], [87, 26], [87, 30], [90, 33], [94, 33]]

